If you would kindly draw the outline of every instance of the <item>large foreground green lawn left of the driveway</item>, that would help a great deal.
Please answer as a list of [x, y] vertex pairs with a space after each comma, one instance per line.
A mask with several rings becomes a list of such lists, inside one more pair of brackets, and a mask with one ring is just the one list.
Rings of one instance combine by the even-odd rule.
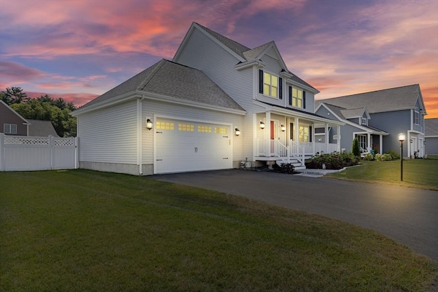
[[0, 172], [0, 291], [428, 291], [438, 263], [318, 215], [152, 178]]

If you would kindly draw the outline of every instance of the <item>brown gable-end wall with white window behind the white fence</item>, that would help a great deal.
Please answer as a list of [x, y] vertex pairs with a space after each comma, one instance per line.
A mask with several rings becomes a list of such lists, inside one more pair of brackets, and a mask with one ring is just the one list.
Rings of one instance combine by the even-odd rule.
[[28, 135], [29, 122], [5, 102], [0, 101], [0, 133], [5, 135]]

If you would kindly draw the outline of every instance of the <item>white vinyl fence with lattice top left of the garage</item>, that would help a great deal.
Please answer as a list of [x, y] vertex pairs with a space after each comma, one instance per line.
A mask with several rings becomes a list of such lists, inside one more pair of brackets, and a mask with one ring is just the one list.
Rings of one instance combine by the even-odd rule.
[[0, 133], [0, 171], [77, 168], [77, 138], [11, 136]]

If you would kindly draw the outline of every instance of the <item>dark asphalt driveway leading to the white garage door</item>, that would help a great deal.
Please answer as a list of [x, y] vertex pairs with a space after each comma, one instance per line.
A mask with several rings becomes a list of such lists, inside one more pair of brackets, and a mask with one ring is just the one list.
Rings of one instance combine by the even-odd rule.
[[253, 170], [155, 175], [376, 230], [438, 261], [438, 191]]

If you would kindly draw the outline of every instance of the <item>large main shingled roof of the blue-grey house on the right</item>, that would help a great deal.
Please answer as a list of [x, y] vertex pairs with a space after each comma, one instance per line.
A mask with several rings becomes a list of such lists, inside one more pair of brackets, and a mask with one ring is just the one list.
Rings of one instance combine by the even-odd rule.
[[374, 114], [385, 111], [413, 109], [419, 97], [421, 97], [420, 85], [414, 84], [399, 88], [321, 99], [315, 102], [315, 107], [318, 107], [320, 103], [335, 105], [344, 109], [365, 107], [369, 114]]

